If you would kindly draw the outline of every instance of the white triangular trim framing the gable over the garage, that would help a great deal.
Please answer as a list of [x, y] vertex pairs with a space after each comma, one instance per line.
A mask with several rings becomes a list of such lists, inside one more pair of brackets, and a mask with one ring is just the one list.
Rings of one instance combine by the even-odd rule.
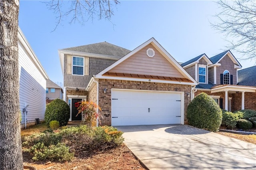
[[[95, 75], [95, 78], [98, 79], [122, 79], [122, 80], [131, 80], [131, 81], [138, 81], [138, 79], [140, 79], [140, 81], [149, 81], [148, 79], [143, 79], [140, 77], [137, 78], [131, 78], [131, 77], [117, 77], [114, 75], [106, 75], [106, 73], [108, 71], [110, 71], [111, 69], [113, 69], [114, 67], [116, 67], [118, 64], [122, 63], [123, 61], [125, 61], [126, 59], [128, 59], [129, 57], [133, 56], [135, 53], [137, 53], [138, 51], [140, 51], [141, 49], [143, 49], [144, 47], [146, 47], [147, 45], [153, 45], [154, 48], [156, 48], [163, 57], [165, 57], [167, 59], [168, 62], [170, 62], [175, 69], [177, 69], [182, 76], [184, 76], [184, 81], [180, 80], [177, 81], [176, 83], [179, 84], [189, 84], [189, 85], [197, 85], [198, 83], [185, 71], [185, 69], [154, 39], [151, 38], [150, 40], [142, 43], [142, 45], [138, 46], [136, 49], [132, 50], [130, 53], [128, 53], [127, 55], [125, 55], [124, 57], [122, 57], [121, 59], [119, 59], [118, 61], [116, 61], [115, 63], [113, 63], [112, 65], [110, 65], [109, 67], [107, 67], [106, 69], [102, 70], [100, 73]], [[105, 74], [105, 75], [104, 75]], [[150, 75], [143, 75], [143, 76], [150, 76]], [[158, 79], [150, 79], [151, 82], [161, 82], [161, 83], [166, 83], [166, 80], [160, 80]], [[167, 80], [168, 81], [168, 80]], [[172, 81], [172, 79], [170, 78], [169, 81]], [[189, 81], [189, 83], [188, 83]], [[173, 83], [175, 83], [175, 81], [173, 81]], [[88, 84], [88, 86], [90, 86], [90, 83]], [[87, 87], [88, 87], [87, 86]]]

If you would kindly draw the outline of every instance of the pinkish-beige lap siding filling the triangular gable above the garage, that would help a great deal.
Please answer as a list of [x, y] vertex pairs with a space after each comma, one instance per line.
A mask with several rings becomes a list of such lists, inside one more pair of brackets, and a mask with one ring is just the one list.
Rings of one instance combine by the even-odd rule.
[[[146, 54], [148, 48], [154, 49], [154, 57], [148, 57]], [[109, 72], [184, 78], [180, 71], [160, 54], [152, 44], [147, 45]]]

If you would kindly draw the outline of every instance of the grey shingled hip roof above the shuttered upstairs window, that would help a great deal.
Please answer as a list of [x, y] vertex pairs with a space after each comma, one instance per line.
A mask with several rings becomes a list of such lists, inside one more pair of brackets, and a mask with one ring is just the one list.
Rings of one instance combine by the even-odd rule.
[[64, 48], [62, 50], [68, 51], [79, 51], [84, 53], [93, 53], [93, 54], [100, 54], [100, 55], [109, 55], [115, 57], [123, 57], [124, 55], [128, 54], [130, 50], [119, 47], [117, 45], [108, 43], [108, 42], [100, 42], [100, 43], [93, 43], [88, 45], [82, 45], [77, 47], [70, 47]]

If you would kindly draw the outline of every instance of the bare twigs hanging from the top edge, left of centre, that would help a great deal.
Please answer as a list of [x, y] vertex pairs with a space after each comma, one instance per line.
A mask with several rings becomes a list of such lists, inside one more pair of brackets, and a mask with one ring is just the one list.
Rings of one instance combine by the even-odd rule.
[[56, 15], [56, 27], [53, 31], [64, 19], [70, 17], [70, 24], [76, 21], [82, 25], [88, 20], [93, 22], [94, 16], [98, 16], [98, 20], [105, 18], [111, 22], [114, 15], [112, 7], [120, 4], [118, 0], [50, 0], [44, 3]]

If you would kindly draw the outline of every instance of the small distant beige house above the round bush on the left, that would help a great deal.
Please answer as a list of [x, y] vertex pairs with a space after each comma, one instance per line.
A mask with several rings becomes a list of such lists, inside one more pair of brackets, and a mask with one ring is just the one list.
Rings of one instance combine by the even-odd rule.
[[50, 79], [46, 80], [46, 100], [62, 99], [63, 90]]

